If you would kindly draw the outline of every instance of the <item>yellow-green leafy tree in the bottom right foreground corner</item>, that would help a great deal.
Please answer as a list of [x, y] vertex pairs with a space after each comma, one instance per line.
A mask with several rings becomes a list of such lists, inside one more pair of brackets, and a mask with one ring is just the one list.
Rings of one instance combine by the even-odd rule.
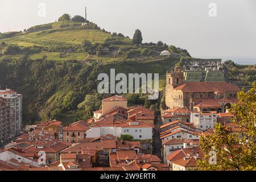
[[[240, 132], [231, 132], [220, 123], [213, 134], [200, 137], [204, 159], [199, 160], [199, 170], [256, 170], [256, 88], [238, 93], [238, 103], [229, 109], [234, 115], [231, 122]], [[212, 160], [213, 159], [213, 160]], [[216, 160], [215, 160], [216, 159]]]

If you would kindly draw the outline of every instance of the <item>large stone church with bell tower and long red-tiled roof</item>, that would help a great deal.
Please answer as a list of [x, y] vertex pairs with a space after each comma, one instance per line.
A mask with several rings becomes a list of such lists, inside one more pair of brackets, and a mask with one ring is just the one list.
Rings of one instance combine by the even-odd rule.
[[236, 103], [238, 86], [224, 81], [185, 82], [181, 68], [166, 74], [166, 106], [192, 111], [225, 112]]

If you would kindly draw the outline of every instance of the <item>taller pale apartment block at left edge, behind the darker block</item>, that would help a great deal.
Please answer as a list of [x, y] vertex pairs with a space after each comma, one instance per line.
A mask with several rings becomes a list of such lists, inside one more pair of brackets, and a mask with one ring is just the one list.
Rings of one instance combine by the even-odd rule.
[[0, 97], [10, 105], [10, 137], [16, 137], [22, 129], [22, 94], [0, 88]]

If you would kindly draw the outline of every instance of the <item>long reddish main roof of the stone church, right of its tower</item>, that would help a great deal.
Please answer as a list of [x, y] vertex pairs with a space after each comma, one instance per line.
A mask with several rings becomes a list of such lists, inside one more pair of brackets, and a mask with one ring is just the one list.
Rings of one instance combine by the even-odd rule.
[[238, 86], [228, 82], [184, 82], [174, 88], [183, 92], [239, 92]]

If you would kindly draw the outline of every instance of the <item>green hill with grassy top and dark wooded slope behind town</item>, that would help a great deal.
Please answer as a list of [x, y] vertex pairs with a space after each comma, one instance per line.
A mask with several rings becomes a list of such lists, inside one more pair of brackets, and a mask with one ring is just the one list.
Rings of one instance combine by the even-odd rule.
[[[160, 57], [166, 49], [175, 56]], [[90, 106], [79, 107], [85, 96], [107, 97], [97, 94], [99, 73], [110, 68], [116, 73], [159, 73], [163, 89], [166, 71], [180, 56], [190, 57], [162, 42], [133, 45], [130, 38], [92, 22], [53, 22], [0, 34], [0, 86], [23, 94], [24, 123], [50, 118], [72, 122], [92, 114]], [[146, 99], [138, 97], [140, 104]]]

